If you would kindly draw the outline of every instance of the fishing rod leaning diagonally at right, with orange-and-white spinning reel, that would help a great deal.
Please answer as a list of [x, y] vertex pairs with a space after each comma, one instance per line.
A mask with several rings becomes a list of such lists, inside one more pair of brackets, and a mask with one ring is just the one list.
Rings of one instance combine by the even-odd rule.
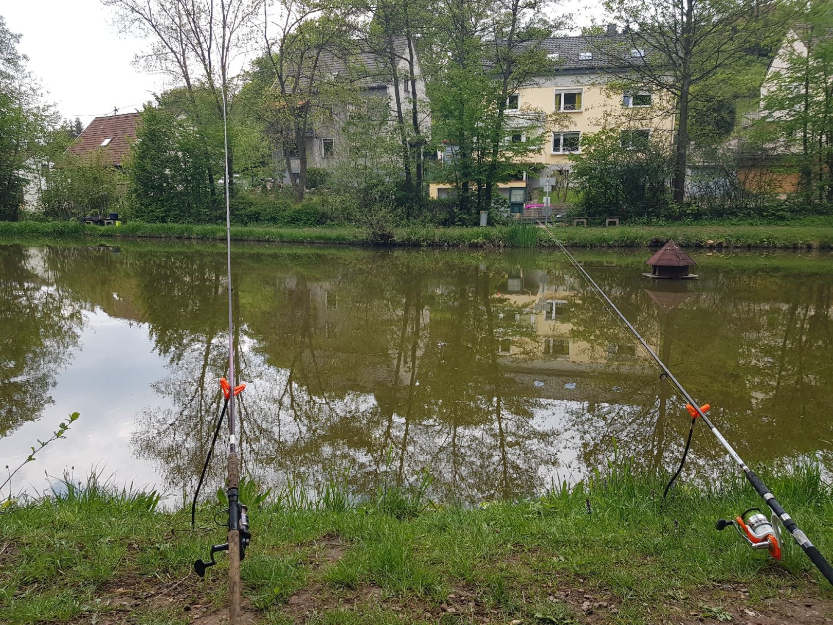
[[[806, 534], [801, 531], [801, 528], [798, 527], [795, 520], [789, 514], [786, 513], [783, 507], [781, 507], [781, 503], [778, 502], [775, 495], [773, 495], [770, 492], [770, 489], [766, 487], [766, 484], [763, 483], [761, 478], [759, 478], [756, 475], [756, 473], [751, 470], [751, 468], [746, 466], [746, 463], [738, 455], [735, 449], [732, 448], [731, 444], [729, 444], [729, 442], [726, 441], [726, 438], [723, 438], [723, 435], [718, 431], [714, 423], [711, 423], [711, 420], [708, 417], [706, 417], [706, 410], [708, 408], [706, 408], [706, 406], [701, 408], [700, 404], [696, 403], [695, 400], [691, 398], [691, 395], [688, 393], [688, 391], [686, 391], [686, 388], [683, 387], [683, 385], [674, 377], [674, 374], [671, 373], [671, 370], [666, 366], [666, 363], [663, 363], [661, 358], [656, 355], [654, 350], [651, 349], [651, 346], [648, 345], [646, 340], [642, 338], [642, 335], [636, 331], [636, 328], [633, 327], [631, 322], [628, 321], [628, 319], [621, 312], [621, 310], [619, 310], [619, 308], [616, 308], [616, 304], [614, 304], [611, 301], [611, 298], [607, 297], [607, 293], [605, 293], [604, 289], [602, 289], [596, 283], [596, 281], [592, 278], [590, 273], [588, 273], [587, 270], [581, 266], [581, 263], [578, 263], [578, 261], [576, 261], [576, 258], [573, 257], [570, 251], [565, 247], [564, 243], [561, 243], [561, 241], [558, 240], [555, 237], [555, 235], [551, 233], [550, 229], [547, 228], [546, 225], [544, 225], [541, 222], [539, 222], [538, 225], [541, 228], [543, 228], [544, 232], [546, 232], [547, 235], [549, 235], [549, 237], [556, 243], [558, 248], [561, 249], [561, 252], [564, 253], [564, 255], [570, 261], [572, 266], [576, 268], [579, 273], [581, 273], [581, 276], [583, 278], [586, 279], [587, 283], [589, 283], [592, 286], [592, 288], [596, 290], [596, 293], [598, 293], [601, 296], [603, 301], [606, 303], [605, 308], [611, 314], [615, 314], [616, 317], [621, 319], [621, 322], [626, 325], [626, 327], [633, 334], [636, 340], [639, 341], [639, 343], [641, 343], [642, 347], [645, 348], [646, 353], [648, 353], [651, 356], [651, 358], [653, 358], [657, 367], [660, 368], [662, 372], [661, 378], [668, 380], [668, 382], [670, 382], [680, 392], [681, 396], [685, 398], [687, 403], [686, 408], [688, 408], [689, 413], [691, 413], [692, 428], [694, 426], [694, 423], [696, 422], [696, 419], [698, 418], [702, 419], [703, 423], [706, 423], [706, 426], [711, 430], [711, 433], [713, 433], [716, 436], [717, 440], [721, 443], [723, 448], [726, 449], [726, 452], [729, 453], [732, 460], [734, 460], [738, 467], [741, 468], [741, 471], [746, 476], [746, 480], [749, 483], [751, 483], [752, 488], [755, 488], [756, 492], [759, 495], [761, 495], [761, 498], [763, 498], [766, 502], [766, 505], [770, 507], [773, 515], [777, 517], [778, 521], [780, 521], [784, 525], [784, 527], [786, 527], [787, 532], [790, 532], [790, 535], [798, 543], [801, 549], [806, 553], [807, 557], [810, 558], [811, 562], [813, 562], [816, 568], [819, 569], [819, 571], [826, 578], [826, 580], [830, 582], [831, 585], [833, 585], [833, 567], [831, 567], [830, 562], [827, 562], [826, 558], [823, 555], [821, 555], [821, 552], [819, 552], [818, 548], [810, 541]], [[689, 433], [689, 442], [691, 442], [691, 433]], [[686, 453], [687, 452], [688, 445], [686, 444]], [[683, 456], [683, 462], [685, 462], [685, 455]], [[681, 468], [682, 464], [680, 465], [680, 469], [677, 470], [677, 473], [675, 474], [674, 478], [676, 478], [676, 475], [680, 473]], [[671, 478], [671, 482], [674, 481], [674, 478]], [[755, 509], [756, 508], [752, 508], [752, 510]], [[747, 527], [746, 520], [746, 512], [744, 512], [743, 514], [741, 514], [741, 517], [737, 517], [735, 521], [727, 522], [721, 519], [717, 522], [717, 528], [723, 529], [723, 527], [726, 527], [727, 525], [737, 524], [738, 527], [743, 527], [745, 533], [742, 531], [741, 535], [744, 536], [747, 539], [747, 541], [751, 542], [753, 547], [758, 548], [757, 546], [762, 546], [764, 542], [767, 542], [766, 536], [756, 536], [756, 532], [754, 532], [754, 527], [751, 527], [752, 523], [750, 523], [751, 528]], [[776, 521], [773, 519], [772, 525], [775, 531], [774, 533], [777, 534], [778, 532], [775, 523]], [[780, 545], [777, 544], [777, 538], [775, 535], [773, 535], [772, 540], [769, 541], [769, 543], [771, 545], [771, 553], [773, 553], [773, 555], [776, 555], [777, 550], [776, 557], [780, 559]]]

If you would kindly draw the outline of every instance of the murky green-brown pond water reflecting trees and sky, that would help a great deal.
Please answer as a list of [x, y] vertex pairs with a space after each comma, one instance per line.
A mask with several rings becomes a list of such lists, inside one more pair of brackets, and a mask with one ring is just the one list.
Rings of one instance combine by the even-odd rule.
[[[654, 283], [647, 255], [577, 254], [748, 463], [830, 468], [833, 258], [700, 254], [700, 280]], [[243, 463], [265, 483], [349, 468], [367, 491], [426, 468], [437, 497], [476, 501], [580, 478], [615, 446], [648, 471], [678, 462], [679, 398], [558, 253], [238, 244], [234, 271]], [[82, 413], [14, 490], [91, 467], [192, 488], [225, 286], [222, 247], [0, 246], [0, 466]], [[699, 428], [690, 472], [723, 458]]]

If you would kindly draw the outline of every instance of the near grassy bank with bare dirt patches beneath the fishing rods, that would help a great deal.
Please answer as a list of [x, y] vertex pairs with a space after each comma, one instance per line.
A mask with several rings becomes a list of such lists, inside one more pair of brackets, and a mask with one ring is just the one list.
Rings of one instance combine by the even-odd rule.
[[[767, 475], [822, 552], [833, 554], [831, 488], [816, 468]], [[757, 503], [737, 480], [706, 493], [610, 466], [586, 484], [525, 502], [440, 507], [343, 483], [273, 495], [252, 510], [242, 566], [255, 622], [821, 623], [833, 592], [790, 539], [784, 561], [753, 552], [715, 519]], [[223, 530], [222, 506], [186, 510], [95, 484], [0, 514], [0, 622], [219, 622], [221, 558], [191, 572]], [[199, 620], [197, 620], [199, 617]], [[774, 620], [771, 620], [774, 619]]]

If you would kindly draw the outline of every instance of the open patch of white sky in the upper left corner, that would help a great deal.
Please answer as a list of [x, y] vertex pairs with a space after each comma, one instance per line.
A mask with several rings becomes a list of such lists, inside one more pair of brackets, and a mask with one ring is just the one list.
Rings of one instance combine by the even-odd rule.
[[0, 15], [11, 32], [22, 34], [18, 49], [29, 69], [56, 102], [63, 117], [81, 117], [86, 126], [97, 115], [141, 110], [161, 76], [132, 67], [141, 40], [120, 35], [111, 10], [98, 0], [2, 0]]

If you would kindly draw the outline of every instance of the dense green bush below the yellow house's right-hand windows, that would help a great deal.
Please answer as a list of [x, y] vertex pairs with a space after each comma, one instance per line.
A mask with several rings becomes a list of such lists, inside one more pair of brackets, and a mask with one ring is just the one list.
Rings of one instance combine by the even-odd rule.
[[654, 139], [634, 140], [627, 130], [586, 135], [581, 153], [571, 155], [579, 206], [587, 215], [666, 217], [671, 197], [671, 158]]

